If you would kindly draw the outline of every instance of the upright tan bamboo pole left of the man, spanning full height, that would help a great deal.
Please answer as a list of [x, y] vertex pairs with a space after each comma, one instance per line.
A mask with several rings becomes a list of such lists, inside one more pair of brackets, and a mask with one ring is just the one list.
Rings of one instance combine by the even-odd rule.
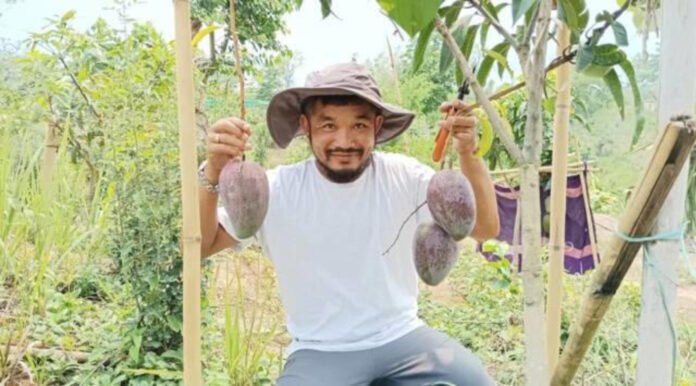
[[184, 384], [201, 381], [201, 231], [196, 183], [193, 52], [188, 0], [174, 0], [184, 257]]

